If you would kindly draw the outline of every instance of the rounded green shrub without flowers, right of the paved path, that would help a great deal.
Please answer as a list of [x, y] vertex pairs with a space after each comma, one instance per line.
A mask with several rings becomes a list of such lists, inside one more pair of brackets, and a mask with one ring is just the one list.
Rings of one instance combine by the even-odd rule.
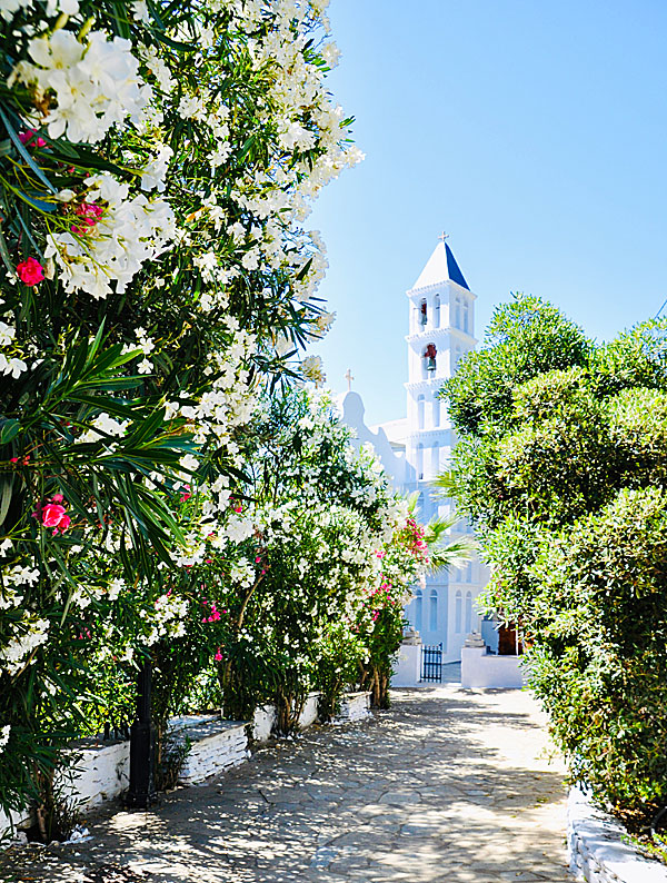
[[667, 323], [595, 344], [500, 307], [447, 381], [452, 473], [574, 780], [634, 829], [667, 805]]

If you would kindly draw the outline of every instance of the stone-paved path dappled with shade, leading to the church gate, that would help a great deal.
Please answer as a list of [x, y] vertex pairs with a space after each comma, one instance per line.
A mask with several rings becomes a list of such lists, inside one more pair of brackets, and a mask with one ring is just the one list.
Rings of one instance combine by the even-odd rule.
[[[94, 839], [0, 859], [52, 883], [573, 883], [565, 788], [528, 693], [395, 692], [389, 712], [313, 727]], [[13, 870], [12, 870], [13, 869]]]

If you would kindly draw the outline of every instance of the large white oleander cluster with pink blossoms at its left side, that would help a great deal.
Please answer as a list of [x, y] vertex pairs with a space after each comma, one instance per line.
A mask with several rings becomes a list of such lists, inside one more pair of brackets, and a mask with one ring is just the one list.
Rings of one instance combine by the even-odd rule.
[[[82, 290], [93, 298], [111, 294], [111, 281], [122, 292], [147, 260], [158, 257], [176, 235], [169, 204], [148, 199], [142, 194], [129, 198], [129, 186], [109, 172], [87, 179], [83, 206], [101, 210], [99, 220], [79, 227], [72, 212], [71, 232], [47, 236], [47, 258], [60, 267], [60, 279], [68, 291]], [[74, 194], [64, 191], [62, 201]], [[73, 205], [73, 202], [72, 202]]]

